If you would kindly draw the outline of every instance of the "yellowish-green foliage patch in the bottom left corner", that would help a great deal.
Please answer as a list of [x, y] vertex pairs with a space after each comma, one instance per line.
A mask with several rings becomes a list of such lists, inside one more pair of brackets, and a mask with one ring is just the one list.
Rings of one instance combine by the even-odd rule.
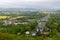
[[8, 34], [8, 33], [0, 33], [0, 40], [17, 40], [17, 36]]

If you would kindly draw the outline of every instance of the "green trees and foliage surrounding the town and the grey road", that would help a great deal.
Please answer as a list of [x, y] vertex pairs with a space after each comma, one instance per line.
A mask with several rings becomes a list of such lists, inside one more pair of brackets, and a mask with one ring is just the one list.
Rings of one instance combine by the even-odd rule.
[[[6, 12], [5, 12], [6, 13]], [[27, 19], [39, 19], [46, 14], [39, 13], [39, 12], [18, 12], [21, 14], [14, 15], [13, 12], [9, 12], [12, 14], [7, 14], [12, 17], [16, 16], [27, 16], [26, 18], [22, 18], [21, 22], [25, 22]], [[17, 13], [17, 12], [16, 12]], [[25, 13], [25, 14], [24, 14]], [[4, 14], [4, 13], [3, 13]], [[26, 15], [27, 14], [27, 15]], [[1, 14], [2, 15], [2, 14]], [[20, 19], [19, 19], [20, 20]], [[35, 31], [38, 23], [33, 20], [30, 21], [29, 24], [23, 25], [8, 25], [8, 26], [2, 26], [3, 22], [0, 21], [0, 40], [60, 40], [60, 14], [51, 14], [51, 18], [46, 23], [46, 27], [44, 27], [44, 31], [50, 32], [50, 35], [46, 36], [44, 34], [41, 34], [41, 32], [37, 32], [36, 36], [26, 35], [26, 31]], [[17, 33], [21, 33], [21, 35], [17, 35]]]

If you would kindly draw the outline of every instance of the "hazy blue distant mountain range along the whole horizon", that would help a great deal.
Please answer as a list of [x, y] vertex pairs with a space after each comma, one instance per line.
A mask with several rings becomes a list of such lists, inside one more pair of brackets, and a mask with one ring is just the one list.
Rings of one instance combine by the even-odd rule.
[[35, 8], [0, 8], [0, 11], [60, 11], [60, 10], [35, 9]]

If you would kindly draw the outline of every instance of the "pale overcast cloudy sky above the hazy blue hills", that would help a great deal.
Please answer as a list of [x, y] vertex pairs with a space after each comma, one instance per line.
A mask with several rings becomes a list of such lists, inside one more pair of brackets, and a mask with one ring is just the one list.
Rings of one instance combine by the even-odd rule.
[[60, 0], [0, 0], [0, 8], [60, 9]]

